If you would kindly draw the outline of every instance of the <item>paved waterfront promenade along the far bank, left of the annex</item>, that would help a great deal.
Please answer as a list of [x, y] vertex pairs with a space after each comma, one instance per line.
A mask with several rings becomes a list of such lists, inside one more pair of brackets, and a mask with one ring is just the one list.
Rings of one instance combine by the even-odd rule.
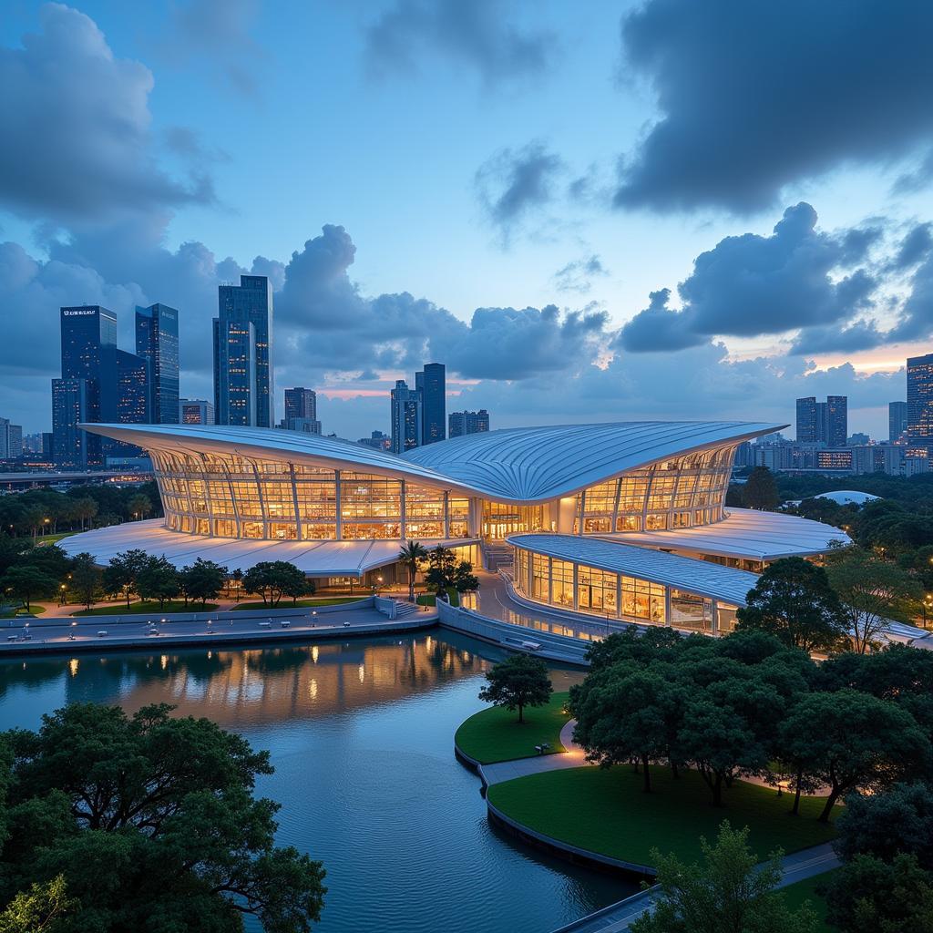
[[397, 634], [430, 628], [438, 623], [435, 609], [424, 607], [390, 619], [372, 597], [344, 606], [315, 610], [174, 613], [160, 615], [35, 617], [0, 621], [0, 658], [45, 653], [114, 651], [120, 649], [192, 648], [216, 645], [282, 644], [351, 635]]

